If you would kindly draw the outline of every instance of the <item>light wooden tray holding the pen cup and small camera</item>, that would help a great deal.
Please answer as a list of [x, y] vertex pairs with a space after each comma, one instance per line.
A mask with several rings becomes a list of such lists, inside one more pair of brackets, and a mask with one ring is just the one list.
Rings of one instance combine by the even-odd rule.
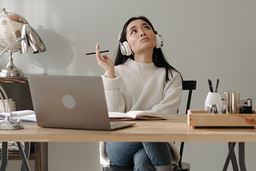
[[256, 128], [256, 113], [214, 114], [204, 110], [188, 110], [187, 124], [198, 127], [251, 127]]

